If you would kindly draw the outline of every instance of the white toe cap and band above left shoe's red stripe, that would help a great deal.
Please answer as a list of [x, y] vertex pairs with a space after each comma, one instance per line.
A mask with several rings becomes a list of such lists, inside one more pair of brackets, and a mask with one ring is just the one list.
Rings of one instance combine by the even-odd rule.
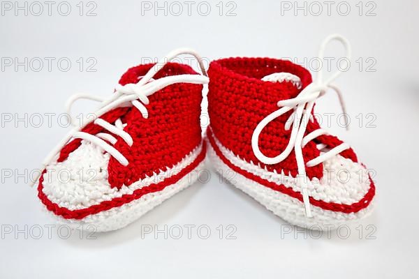
[[[85, 209], [168, 179], [196, 160], [202, 149], [203, 145], [200, 144], [176, 165], [118, 189], [111, 188], [108, 182], [110, 154], [103, 152], [96, 144], [83, 140], [78, 149], [71, 152], [66, 160], [47, 167], [47, 172], [43, 175], [42, 190], [51, 202], [61, 207], [70, 210]], [[71, 179], [67, 179], [66, 176], [70, 176]]]

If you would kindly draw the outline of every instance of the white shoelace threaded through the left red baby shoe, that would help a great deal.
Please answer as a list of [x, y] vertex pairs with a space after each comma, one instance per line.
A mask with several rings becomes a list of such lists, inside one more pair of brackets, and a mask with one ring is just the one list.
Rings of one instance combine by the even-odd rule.
[[[166, 65], [166, 63], [168, 63], [168, 61], [174, 59], [176, 56], [179, 56], [181, 54], [193, 55], [198, 61], [200, 70], [202, 70], [203, 75], [171, 75], [168, 77], [161, 77], [157, 80], [153, 79], [154, 75], [156, 75], [156, 73], [158, 73], [159, 70], [161, 70], [161, 68], [163, 68], [163, 66]], [[112, 93], [112, 96], [110, 98], [105, 99], [100, 96], [94, 96], [87, 93], [76, 93], [75, 95], [71, 96], [71, 98], [69, 98], [66, 102], [66, 111], [71, 118], [70, 120], [73, 128], [66, 135], [66, 137], [64, 137], [64, 139], [61, 140], [61, 142], [59, 142], [59, 144], [57, 144], [57, 146], [54, 149], [52, 149], [52, 151], [50, 151], [45, 160], [43, 160], [41, 173], [42, 170], [45, 169], [45, 167], [47, 167], [47, 165], [51, 163], [54, 157], [57, 156], [59, 151], [61, 151], [61, 149], [71, 139], [76, 138], [87, 140], [96, 144], [97, 146], [100, 146], [103, 150], [110, 153], [110, 156], [118, 160], [118, 162], [121, 163], [121, 165], [128, 165], [128, 160], [126, 160], [122, 153], [115, 149], [115, 147], [113, 146], [117, 142], [117, 139], [114, 136], [108, 133], [98, 133], [96, 135], [91, 135], [89, 133], [84, 133], [81, 130], [89, 123], [93, 122], [96, 125], [104, 128], [105, 130], [108, 130], [110, 133], [121, 137], [122, 140], [124, 140], [124, 142], [128, 144], [128, 146], [132, 146], [133, 138], [131, 137], [131, 135], [126, 133], [126, 131], [124, 131], [126, 124], [123, 124], [121, 119], [117, 119], [117, 121], [115, 121], [115, 125], [112, 125], [111, 123], [103, 119], [100, 119], [99, 116], [102, 116], [106, 112], [109, 112], [110, 110], [113, 110], [116, 107], [128, 107], [132, 105], [141, 112], [142, 117], [147, 119], [148, 112], [146, 105], [149, 104], [149, 99], [147, 98], [147, 96], [152, 95], [156, 91], [159, 91], [160, 89], [163, 89], [164, 87], [170, 84], [207, 84], [208, 82], [209, 79], [207, 77], [207, 72], [203, 64], [203, 59], [200, 57], [200, 55], [193, 50], [179, 49], [174, 50], [170, 52], [167, 56], [163, 57], [163, 59], [156, 63], [152, 68], [150, 68], [147, 74], [141, 77], [140, 81], [136, 84], [126, 84], [124, 86], [122, 86], [121, 84], [117, 84], [117, 86], [115, 86], [115, 93]], [[94, 114], [89, 114], [89, 117], [84, 117], [83, 121], [81, 122], [81, 126], [77, 126], [75, 124], [75, 117], [71, 115], [71, 107], [73, 106], [73, 103], [79, 99], [88, 99], [100, 102], [98, 110], [96, 110]], [[110, 142], [110, 144], [108, 142]], [[41, 173], [38, 175], [36, 179], [34, 179], [32, 185], [34, 185], [34, 183], [38, 181], [39, 177], [41, 176]]]

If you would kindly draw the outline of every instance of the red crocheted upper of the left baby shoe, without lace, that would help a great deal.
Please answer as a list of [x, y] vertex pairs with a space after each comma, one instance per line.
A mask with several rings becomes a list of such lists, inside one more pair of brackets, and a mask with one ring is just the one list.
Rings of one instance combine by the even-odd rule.
[[[137, 83], [154, 64], [145, 64], [128, 69], [119, 84]], [[197, 74], [191, 67], [179, 63], [167, 63], [155, 79], [169, 75]], [[110, 123], [119, 117], [128, 126], [124, 129], [133, 138], [128, 146], [121, 137], [115, 148], [124, 155], [129, 164], [124, 167], [111, 157], [108, 164], [108, 181], [111, 187], [121, 188], [172, 167], [202, 141], [200, 129], [201, 84], [172, 84], [149, 96], [148, 118], [132, 107], [119, 107], [101, 116]], [[90, 123], [83, 132], [92, 135], [103, 132], [103, 128]], [[108, 131], [105, 131], [109, 133]], [[80, 146], [80, 139], [69, 142], [59, 155], [59, 162]]]

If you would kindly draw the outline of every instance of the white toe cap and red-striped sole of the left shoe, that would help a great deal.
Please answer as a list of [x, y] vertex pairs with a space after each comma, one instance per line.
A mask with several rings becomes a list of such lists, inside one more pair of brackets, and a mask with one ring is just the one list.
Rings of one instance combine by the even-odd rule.
[[205, 145], [171, 168], [121, 188], [108, 183], [109, 159], [100, 147], [83, 140], [66, 160], [47, 167], [38, 196], [59, 223], [97, 232], [125, 227], [198, 179]]

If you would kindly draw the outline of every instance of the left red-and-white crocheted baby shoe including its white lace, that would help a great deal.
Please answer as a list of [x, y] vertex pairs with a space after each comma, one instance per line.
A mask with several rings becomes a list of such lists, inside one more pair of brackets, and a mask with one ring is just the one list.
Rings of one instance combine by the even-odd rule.
[[[192, 54], [204, 75], [169, 63]], [[110, 98], [77, 94], [75, 100], [100, 102], [99, 109], [76, 124], [44, 161], [38, 197], [61, 223], [98, 232], [133, 222], [191, 185], [203, 168], [200, 56], [172, 52], [156, 64], [130, 68]]]

